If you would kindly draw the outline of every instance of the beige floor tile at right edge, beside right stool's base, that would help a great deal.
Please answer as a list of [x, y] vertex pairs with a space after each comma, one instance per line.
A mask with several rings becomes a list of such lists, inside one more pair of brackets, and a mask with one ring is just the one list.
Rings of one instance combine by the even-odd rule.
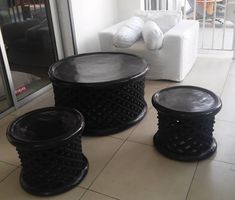
[[212, 159], [235, 164], [235, 123], [216, 120], [214, 137], [217, 141], [217, 151]]

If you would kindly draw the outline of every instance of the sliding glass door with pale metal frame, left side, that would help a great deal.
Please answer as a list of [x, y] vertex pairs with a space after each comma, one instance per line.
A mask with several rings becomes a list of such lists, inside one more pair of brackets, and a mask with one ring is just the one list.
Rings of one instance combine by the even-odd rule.
[[0, 0], [0, 118], [50, 89], [50, 65], [74, 55], [68, 2]]

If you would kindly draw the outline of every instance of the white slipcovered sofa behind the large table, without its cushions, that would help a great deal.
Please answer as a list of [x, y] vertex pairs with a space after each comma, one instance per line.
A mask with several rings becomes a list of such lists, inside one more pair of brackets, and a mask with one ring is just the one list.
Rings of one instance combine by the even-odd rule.
[[182, 81], [191, 70], [197, 57], [199, 23], [182, 20], [164, 34], [161, 49], [148, 50], [143, 39], [129, 48], [113, 45], [114, 34], [125, 24], [122, 21], [99, 33], [101, 51], [125, 52], [146, 59], [150, 64], [147, 79]]

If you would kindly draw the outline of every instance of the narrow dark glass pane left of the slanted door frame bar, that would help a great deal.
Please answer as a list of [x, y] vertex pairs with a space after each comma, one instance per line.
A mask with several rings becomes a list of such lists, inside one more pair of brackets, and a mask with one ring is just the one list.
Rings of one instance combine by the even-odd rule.
[[2, 55], [0, 54], [0, 113], [12, 106], [3, 66]]

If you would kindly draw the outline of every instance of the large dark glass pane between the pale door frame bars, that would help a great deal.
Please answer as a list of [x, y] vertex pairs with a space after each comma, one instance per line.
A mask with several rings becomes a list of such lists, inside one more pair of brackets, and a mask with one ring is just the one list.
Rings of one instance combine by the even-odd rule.
[[0, 26], [18, 100], [49, 83], [55, 49], [47, 5], [43, 0], [0, 0]]

